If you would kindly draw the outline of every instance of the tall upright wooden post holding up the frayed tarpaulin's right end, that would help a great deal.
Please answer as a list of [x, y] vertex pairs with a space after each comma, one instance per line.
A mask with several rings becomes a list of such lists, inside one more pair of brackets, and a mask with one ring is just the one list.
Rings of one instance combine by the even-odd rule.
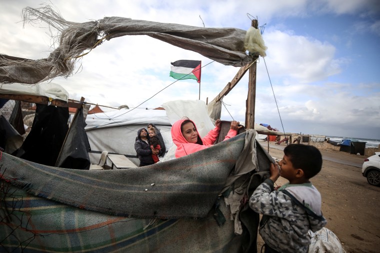
[[[257, 20], [253, 19], [252, 24], [257, 28]], [[256, 100], [256, 62], [254, 62], [248, 69], [248, 96], [246, 99], [245, 111], [245, 129], [254, 129], [254, 103]]]

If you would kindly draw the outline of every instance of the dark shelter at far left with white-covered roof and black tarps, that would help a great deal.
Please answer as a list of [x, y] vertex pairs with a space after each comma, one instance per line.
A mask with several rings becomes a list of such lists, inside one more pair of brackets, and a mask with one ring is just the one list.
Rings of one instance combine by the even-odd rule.
[[[71, 105], [80, 108], [80, 111], [82, 111], [82, 105], [69, 102], [68, 92], [62, 86], [53, 82], [43, 82], [33, 86], [17, 83], [2, 84], [0, 98], [34, 102], [36, 104], [30, 133], [23, 143], [18, 144], [17, 149], [11, 153], [17, 157], [43, 165], [88, 169], [89, 147], [85, 145], [87, 136], [83, 128], [82, 114], [78, 121], [82, 120], [83, 124], [78, 127], [78, 122], [75, 123], [76, 127], [73, 127], [69, 133], [71, 137], [66, 138], [68, 108]], [[22, 122], [21, 114], [19, 118]], [[7, 142], [7, 145], [9, 145], [9, 142]], [[61, 152], [62, 146], [65, 150], [64, 152]], [[60, 164], [56, 164], [58, 158]]]

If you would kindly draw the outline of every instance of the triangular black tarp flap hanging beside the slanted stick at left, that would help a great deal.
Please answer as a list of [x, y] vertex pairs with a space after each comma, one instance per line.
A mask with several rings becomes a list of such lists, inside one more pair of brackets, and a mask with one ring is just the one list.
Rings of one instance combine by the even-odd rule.
[[88, 170], [90, 166], [88, 152], [90, 146], [84, 131], [86, 123], [83, 108], [79, 109], [66, 137], [64, 146], [56, 161], [55, 167]]

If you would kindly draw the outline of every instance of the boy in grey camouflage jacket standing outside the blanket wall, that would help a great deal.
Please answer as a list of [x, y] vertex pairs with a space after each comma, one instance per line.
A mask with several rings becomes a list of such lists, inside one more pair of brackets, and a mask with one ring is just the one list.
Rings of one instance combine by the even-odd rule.
[[[322, 156], [313, 146], [290, 144], [283, 150], [278, 165], [270, 165], [270, 177], [249, 199], [249, 207], [262, 214], [259, 234], [265, 253], [306, 253], [310, 244], [307, 232], [326, 225], [321, 197], [309, 179], [322, 168]], [[273, 184], [281, 176], [287, 180], [278, 190]]]

